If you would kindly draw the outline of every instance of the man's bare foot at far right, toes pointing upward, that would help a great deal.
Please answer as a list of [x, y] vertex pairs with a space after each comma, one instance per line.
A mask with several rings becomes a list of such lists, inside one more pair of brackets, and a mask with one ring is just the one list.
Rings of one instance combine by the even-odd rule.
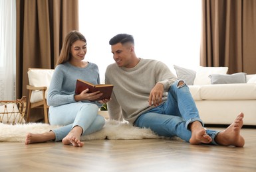
[[243, 116], [244, 114], [241, 112], [230, 126], [219, 132], [215, 137], [215, 142], [223, 146], [243, 147], [245, 145], [245, 140], [240, 135], [243, 126]]

